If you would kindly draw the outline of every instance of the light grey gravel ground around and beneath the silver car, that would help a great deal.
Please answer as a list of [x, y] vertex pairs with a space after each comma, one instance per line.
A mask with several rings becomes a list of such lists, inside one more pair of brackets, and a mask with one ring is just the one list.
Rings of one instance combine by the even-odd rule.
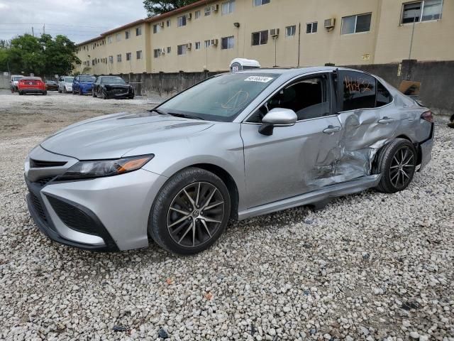
[[454, 340], [446, 119], [437, 119], [433, 160], [401, 193], [231, 222], [189, 257], [50, 242], [26, 209], [26, 153], [71, 120], [146, 102], [0, 94], [0, 339]]

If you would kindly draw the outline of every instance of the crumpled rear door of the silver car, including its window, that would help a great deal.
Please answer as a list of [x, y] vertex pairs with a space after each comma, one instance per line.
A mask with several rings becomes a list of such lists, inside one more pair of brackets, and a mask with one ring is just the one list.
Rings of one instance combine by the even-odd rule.
[[377, 148], [397, 129], [399, 113], [386, 88], [372, 75], [338, 70], [339, 180], [370, 175]]

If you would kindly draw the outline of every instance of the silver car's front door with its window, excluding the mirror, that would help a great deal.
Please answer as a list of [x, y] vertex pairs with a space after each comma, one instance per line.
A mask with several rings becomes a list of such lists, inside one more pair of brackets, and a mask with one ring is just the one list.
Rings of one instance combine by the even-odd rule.
[[[301, 78], [279, 90], [241, 124], [249, 207], [318, 190], [335, 182], [341, 123], [330, 106], [328, 75]], [[260, 121], [275, 107], [292, 109], [294, 126], [259, 133]]]

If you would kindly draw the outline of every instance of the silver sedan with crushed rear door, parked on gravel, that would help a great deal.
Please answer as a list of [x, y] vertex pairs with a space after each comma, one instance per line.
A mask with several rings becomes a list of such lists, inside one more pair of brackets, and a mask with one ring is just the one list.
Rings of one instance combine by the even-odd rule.
[[248, 70], [50, 136], [26, 159], [28, 207], [63, 244], [195, 254], [231, 218], [404, 190], [432, 145], [431, 111], [380, 77]]

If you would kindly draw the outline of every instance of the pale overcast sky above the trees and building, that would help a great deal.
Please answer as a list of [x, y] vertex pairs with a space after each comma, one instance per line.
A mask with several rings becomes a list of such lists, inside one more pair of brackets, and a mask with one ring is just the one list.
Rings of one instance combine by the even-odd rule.
[[0, 0], [0, 39], [64, 34], [76, 43], [145, 18], [143, 0]]

